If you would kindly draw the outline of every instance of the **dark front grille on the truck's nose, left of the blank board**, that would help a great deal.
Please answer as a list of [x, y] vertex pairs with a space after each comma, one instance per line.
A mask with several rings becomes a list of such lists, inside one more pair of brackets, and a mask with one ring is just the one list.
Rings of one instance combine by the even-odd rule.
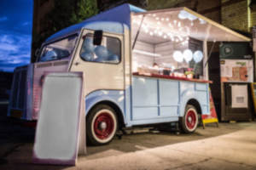
[[25, 106], [27, 67], [17, 68], [14, 73], [11, 106], [23, 110]]

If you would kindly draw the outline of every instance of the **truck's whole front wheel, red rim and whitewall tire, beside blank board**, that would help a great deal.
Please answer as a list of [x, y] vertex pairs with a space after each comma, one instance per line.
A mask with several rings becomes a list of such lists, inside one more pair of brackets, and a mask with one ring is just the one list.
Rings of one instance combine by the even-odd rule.
[[87, 139], [90, 144], [108, 144], [118, 128], [116, 113], [108, 105], [96, 105], [86, 120]]

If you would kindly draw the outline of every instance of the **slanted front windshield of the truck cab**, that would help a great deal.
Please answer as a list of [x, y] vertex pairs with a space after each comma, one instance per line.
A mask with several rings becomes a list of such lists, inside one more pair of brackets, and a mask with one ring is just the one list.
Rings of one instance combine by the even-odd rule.
[[73, 53], [78, 36], [67, 37], [44, 46], [39, 61], [64, 59]]

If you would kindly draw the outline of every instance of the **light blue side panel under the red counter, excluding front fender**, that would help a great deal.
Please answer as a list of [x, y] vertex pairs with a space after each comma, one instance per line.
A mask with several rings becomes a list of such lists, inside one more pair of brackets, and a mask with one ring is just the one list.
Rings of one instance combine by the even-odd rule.
[[184, 115], [189, 99], [195, 99], [202, 114], [209, 114], [208, 84], [153, 77], [132, 77], [131, 124], [176, 122]]

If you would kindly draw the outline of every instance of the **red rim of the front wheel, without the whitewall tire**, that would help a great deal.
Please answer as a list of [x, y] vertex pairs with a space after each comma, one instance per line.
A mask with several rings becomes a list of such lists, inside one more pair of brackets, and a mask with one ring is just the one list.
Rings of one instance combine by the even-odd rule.
[[113, 127], [113, 117], [107, 112], [102, 112], [96, 116], [94, 132], [98, 139], [108, 139], [108, 137], [113, 133]]

